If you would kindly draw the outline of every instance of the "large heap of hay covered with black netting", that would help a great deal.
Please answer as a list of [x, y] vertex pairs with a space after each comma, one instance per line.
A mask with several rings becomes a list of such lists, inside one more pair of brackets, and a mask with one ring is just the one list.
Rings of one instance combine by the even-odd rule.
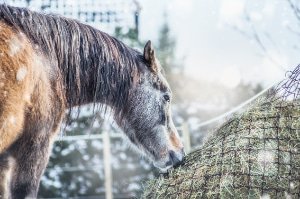
[[300, 66], [233, 115], [144, 198], [300, 198]]

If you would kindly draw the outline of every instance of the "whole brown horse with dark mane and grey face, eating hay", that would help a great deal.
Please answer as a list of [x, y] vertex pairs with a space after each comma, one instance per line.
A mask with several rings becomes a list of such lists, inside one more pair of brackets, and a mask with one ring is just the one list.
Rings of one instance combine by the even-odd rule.
[[0, 198], [37, 196], [65, 110], [87, 103], [110, 106], [158, 168], [178, 164], [170, 101], [151, 42], [142, 54], [77, 21], [0, 5]]

